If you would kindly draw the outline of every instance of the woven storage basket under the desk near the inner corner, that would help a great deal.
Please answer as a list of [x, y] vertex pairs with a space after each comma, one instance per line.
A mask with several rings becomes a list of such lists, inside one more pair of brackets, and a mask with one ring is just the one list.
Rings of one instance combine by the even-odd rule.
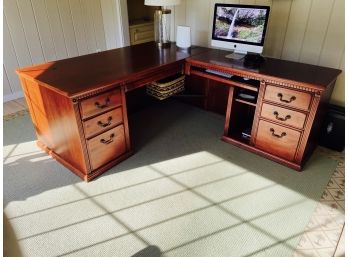
[[185, 84], [185, 75], [176, 74], [168, 78], [152, 82], [147, 86], [147, 94], [159, 99], [166, 99], [176, 93], [183, 91]]

